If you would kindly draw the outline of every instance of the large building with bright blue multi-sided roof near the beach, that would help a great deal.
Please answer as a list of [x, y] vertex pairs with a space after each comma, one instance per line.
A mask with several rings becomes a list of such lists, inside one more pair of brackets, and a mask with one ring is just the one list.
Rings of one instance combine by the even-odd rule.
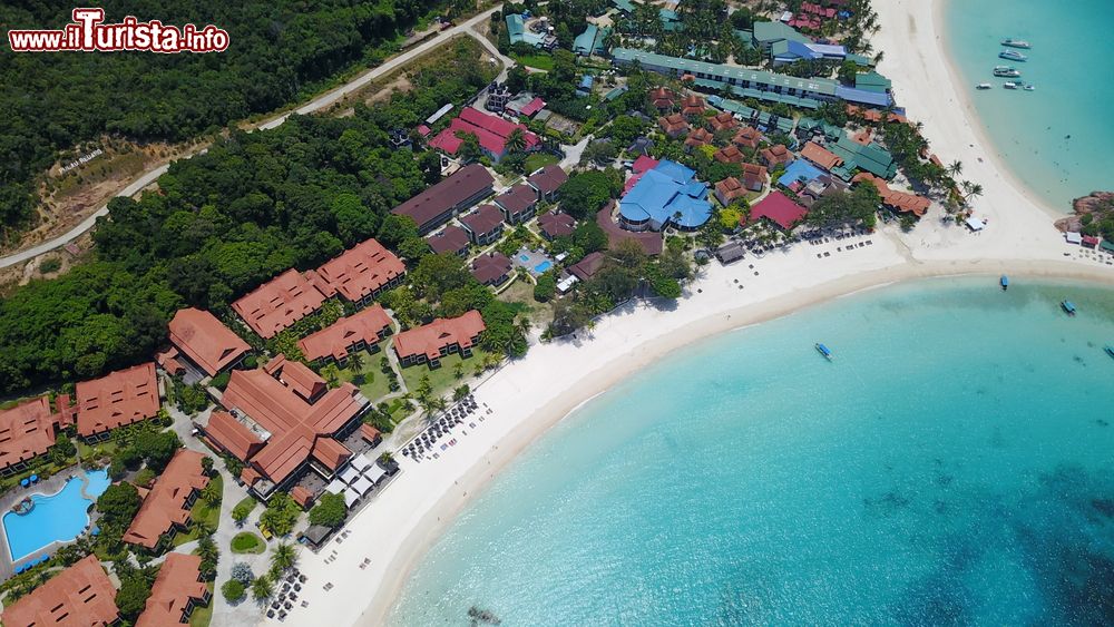
[[619, 223], [629, 231], [682, 231], [700, 228], [712, 215], [707, 185], [696, 173], [676, 161], [663, 160], [642, 175], [619, 199]]

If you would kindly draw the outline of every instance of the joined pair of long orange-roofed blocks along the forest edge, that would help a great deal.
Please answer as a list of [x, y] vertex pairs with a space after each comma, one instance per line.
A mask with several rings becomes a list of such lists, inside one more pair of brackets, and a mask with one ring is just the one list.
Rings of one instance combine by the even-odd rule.
[[334, 296], [362, 307], [402, 284], [405, 266], [375, 239], [368, 239], [316, 271], [287, 270], [232, 304], [252, 331], [271, 339], [316, 312]]

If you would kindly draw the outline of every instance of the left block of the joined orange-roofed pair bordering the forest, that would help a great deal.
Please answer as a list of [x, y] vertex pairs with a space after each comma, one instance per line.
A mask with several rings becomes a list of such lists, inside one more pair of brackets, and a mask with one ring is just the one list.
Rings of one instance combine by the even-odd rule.
[[291, 268], [232, 303], [232, 308], [260, 337], [270, 340], [320, 310], [330, 292], [316, 273], [303, 275]]

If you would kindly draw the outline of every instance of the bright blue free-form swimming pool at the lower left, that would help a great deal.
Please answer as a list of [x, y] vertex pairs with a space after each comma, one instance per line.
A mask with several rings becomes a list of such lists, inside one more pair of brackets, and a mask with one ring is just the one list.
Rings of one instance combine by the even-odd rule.
[[[86, 473], [89, 487], [86, 492], [97, 498], [108, 489], [108, 472], [96, 470]], [[22, 559], [51, 542], [68, 542], [77, 538], [89, 525], [89, 506], [92, 501], [81, 496], [81, 479], [74, 478], [50, 496], [32, 494], [35, 509], [26, 516], [8, 512], [3, 517], [3, 531], [12, 560]]]

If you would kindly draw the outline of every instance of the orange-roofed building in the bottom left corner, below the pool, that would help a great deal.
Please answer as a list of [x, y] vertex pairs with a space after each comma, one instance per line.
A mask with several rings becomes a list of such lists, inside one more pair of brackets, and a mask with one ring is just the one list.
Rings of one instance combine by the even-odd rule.
[[92, 555], [6, 604], [0, 616], [7, 627], [102, 627], [119, 619], [116, 588]]

